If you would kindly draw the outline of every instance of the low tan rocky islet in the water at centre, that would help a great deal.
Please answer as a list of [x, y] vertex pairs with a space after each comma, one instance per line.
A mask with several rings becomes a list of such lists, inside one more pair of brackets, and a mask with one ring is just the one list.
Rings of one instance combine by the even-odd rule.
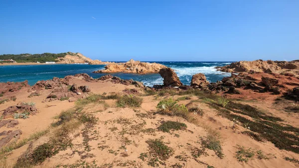
[[131, 59], [126, 63], [111, 63], [105, 66], [104, 70], [94, 71], [93, 73], [158, 73], [160, 69], [166, 68], [165, 65], [157, 63], [140, 62]]

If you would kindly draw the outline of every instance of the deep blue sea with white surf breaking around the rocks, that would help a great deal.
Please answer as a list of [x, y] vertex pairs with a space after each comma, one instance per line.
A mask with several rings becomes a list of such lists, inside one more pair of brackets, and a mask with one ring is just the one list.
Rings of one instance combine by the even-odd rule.
[[[156, 62], [175, 70], [184, 85], [190, 85], [192, 75], [203, 73], [210, 82], [216, 82], [230, 73], [216, 71], [216, 66], [225, 66], [232, 62]], [[87, 73], [93, 78], [99, 78], [105, 73], [92, 73], [104, 69], [105, 65], [88, 64], [49, 64], [49, 65], [0, 65], [0, 82], [22, 82], [28, 80], [29, 85], [34, 85], [39, 80], [48, 80], [53, 77], [63, 78], [67, 75]], [[159, 74], [128, 74], [110, 73], [122, 79], [133, 79], [143, 82], [146, 86], [163, 84]]]

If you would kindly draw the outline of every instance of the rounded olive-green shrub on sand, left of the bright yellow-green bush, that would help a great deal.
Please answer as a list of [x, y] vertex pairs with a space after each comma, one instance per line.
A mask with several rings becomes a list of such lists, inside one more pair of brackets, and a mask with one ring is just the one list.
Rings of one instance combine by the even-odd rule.
[[134, 95], [124, 95], [118, 98], [117, 107], [140, 107], [143, 99]]

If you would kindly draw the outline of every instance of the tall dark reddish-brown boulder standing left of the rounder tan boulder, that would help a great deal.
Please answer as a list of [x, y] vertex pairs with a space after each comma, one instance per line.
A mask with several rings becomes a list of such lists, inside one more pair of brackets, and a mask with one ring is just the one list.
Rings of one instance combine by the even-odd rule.
[[163, 78], [164, 86], [181, 86], [182, 83], [177, 77], [176, 73], [171, 68], [162, 68], [159, 71], [159, 74]]

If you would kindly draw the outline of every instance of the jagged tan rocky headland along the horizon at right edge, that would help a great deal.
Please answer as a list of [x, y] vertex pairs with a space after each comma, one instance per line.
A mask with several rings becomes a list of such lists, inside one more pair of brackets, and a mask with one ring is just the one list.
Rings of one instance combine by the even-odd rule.
[[[223, 72], [265, 72], [265, 73], [288, 73], [295, 72], [299, 75], [299, 62], [297, 61], [239, 61], [233, 62], [230, 65], [217, 67], [218, 70]], [[290, 72], [291, 71], [291, 72]]]

